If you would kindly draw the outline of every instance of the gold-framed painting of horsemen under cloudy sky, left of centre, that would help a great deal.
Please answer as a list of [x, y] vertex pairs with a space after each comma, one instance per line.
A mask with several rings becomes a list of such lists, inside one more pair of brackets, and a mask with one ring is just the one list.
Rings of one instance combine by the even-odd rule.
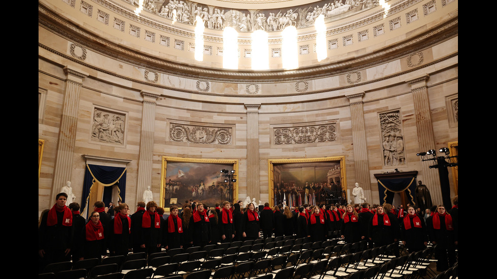
[[[238, 197], [236, 181], [229, 181], [221, 170], [238, 173], [238, 160], [162, 157], [160, 203], [167, 212], [172, 204], [181, 208], [185, 201], [209, 207]], [[235, 177], [236, 179], [236, 177]]]

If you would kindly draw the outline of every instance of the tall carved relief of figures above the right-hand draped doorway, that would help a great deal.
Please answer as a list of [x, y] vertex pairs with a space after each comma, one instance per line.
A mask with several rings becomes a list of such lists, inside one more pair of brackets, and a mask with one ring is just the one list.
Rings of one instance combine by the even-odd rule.
[[379, 114], [383, 150], [383, 166], [406, 164], [404, 136], [400, 110]]

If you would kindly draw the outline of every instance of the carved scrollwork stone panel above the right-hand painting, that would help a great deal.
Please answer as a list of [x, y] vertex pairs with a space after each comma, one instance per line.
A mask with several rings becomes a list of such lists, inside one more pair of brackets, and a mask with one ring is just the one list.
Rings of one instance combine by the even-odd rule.
[[336, 124], [274, 129], [275, 144], [336, 141]]

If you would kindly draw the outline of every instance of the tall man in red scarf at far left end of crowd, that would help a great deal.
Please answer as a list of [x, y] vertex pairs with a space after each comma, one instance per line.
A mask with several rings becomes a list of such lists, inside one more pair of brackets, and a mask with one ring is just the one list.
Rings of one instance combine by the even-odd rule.
[[73, 213], [65, 206], [66, 193], [55, 197], [54, 206], [47, 211], [38, 228], [39, 271], [47, 264], [70, 260], [73, 246]]

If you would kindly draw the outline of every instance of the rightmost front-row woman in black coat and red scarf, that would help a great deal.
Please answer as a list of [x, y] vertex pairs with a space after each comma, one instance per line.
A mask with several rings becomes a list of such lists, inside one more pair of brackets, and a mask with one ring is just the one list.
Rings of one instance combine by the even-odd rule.
[[445, 271], [455, 263], [454, 225], [452, 216], [445, 212], [443, 205], [437, 206], [436, 213], [427, 219], [428, 236], [435, 245], [437, 271]]

